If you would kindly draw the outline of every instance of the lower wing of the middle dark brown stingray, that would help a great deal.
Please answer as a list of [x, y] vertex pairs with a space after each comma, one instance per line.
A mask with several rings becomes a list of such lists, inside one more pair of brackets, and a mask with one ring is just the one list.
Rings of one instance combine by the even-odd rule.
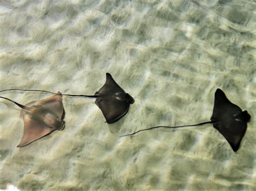
[[97, 98], [95, 101], [107, 123], [117, 122], [129, 110], [130, 104], [117, 100], [114, 97]]

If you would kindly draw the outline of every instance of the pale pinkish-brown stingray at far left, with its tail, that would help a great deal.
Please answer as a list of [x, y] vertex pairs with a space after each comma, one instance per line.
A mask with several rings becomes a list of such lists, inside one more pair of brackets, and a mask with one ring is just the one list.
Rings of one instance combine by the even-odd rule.
[[44, 100], [29, 102], [26, 105], [19, 104], [6, 97], [0, 96], [0, 98], [9, 100], [22, 108], [19, 117], [23, 118], [24, 131], [21, 142], [17, 147], [26, 146], [55, 130], [65, 128], [65, 122], [63, 121], [65, 111], [60, 92]]

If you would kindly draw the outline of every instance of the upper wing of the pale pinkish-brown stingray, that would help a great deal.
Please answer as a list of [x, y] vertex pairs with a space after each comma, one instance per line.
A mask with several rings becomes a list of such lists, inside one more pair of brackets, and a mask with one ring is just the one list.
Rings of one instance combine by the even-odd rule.
[[57, 115], [59, 119], [62, 119], [64, 113], [62, 94], [59, 91], [58, 94], [59, 95], [53, 95], [43, 100], [39, 100], [35, 102], [34, 105], [42, 105], [45, 109], [48, 109]]

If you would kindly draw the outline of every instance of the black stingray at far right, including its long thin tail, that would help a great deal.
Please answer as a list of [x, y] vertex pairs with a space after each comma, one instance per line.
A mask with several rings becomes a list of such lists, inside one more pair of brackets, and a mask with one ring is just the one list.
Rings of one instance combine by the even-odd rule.
[[231, 103], [224, 92], [221, 89], [215, 91], [214, 107], [211, 121], [203, 122], [194, 125], [181, 125], [181, 126], [154, 126], [149, 129], [142, 129], [134, 133], [123, 135], [131, 136], [140, 131], [146, 131], [156, 128], [181, 128], [185, 126], [198, 126], [207, 123], [213, 124], [213, 127], [217, 129], [221, 135], [225, 137], [227, 142], [232, 147], [233, 151], [238, 151], [242, 138], [245, 135], [247, 129], [247, 123], [251, 121], [251, 116], [248, 112], [242, 111], [238, 105]]

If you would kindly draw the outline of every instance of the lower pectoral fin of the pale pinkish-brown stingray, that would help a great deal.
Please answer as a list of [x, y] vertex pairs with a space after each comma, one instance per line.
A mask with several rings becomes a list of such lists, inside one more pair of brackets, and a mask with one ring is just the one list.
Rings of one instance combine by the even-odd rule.
[[34, 142], [37, 139], [40, 139], [55, 129], [49, 128], [46, 124], [34, 121], [30, 118], [30, 115], [23, 115], [24, 121], [24, 131], [21, 142], [17, 147], [23, 147]]

